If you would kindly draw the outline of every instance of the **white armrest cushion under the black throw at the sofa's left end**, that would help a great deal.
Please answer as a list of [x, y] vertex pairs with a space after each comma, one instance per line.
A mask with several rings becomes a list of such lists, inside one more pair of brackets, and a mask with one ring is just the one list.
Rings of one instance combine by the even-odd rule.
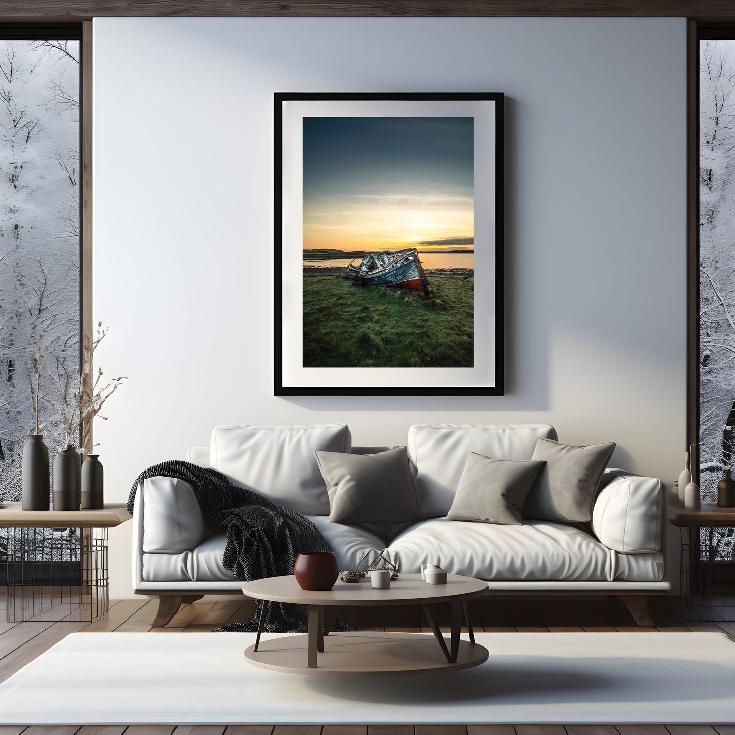
[[188, 482], [172, 477], [143, 481], [143, 553], [191, 551], [207, 537], [204, 515]]

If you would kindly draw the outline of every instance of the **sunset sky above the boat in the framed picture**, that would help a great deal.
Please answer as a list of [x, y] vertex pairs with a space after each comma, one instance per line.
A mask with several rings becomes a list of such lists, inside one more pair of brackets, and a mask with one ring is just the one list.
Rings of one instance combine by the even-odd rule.
[[304, 248], [473, 248], [473, 118], [304, 118]]

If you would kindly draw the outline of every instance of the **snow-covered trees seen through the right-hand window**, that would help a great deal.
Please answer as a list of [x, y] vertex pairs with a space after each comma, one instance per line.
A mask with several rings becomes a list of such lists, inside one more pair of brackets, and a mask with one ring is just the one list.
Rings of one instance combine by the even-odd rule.
[[[700, 46], [700, 484], [735, 469], [735, 43]], [[730, 558], [732, 531], [714, 542]]]

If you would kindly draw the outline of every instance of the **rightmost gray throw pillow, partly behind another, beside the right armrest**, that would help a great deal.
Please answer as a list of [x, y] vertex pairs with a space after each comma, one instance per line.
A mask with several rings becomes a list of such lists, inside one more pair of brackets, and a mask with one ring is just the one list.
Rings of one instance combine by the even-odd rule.
[[592, 520], [600, 479], [615, 443], [575, 447], [539, 439], [531, 459], [542, 459], [544, 466], [528, 493], [523, 517], [560, 523]]

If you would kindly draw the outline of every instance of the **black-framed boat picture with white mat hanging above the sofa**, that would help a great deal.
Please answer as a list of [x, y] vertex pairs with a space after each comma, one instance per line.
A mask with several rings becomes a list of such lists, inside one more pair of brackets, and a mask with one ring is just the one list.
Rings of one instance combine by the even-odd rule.
[[503, 395], [503, 95], [276, 93], [276, 395]]

